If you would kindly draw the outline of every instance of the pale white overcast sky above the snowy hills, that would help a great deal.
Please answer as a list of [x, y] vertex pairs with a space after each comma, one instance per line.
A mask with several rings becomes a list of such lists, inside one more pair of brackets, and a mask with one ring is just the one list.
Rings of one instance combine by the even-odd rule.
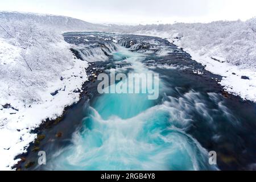
[[0, 0], [0, 11], [65, 15], [93, 23], [174, 23], [246, 20], [255, 0]]

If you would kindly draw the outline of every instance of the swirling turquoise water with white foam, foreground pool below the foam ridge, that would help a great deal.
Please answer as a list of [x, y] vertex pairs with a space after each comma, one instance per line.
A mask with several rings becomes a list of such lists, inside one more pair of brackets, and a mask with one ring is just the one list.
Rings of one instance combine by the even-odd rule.
[[89, 110], [84, 130], [74, 135], [72, 146], [56, 156], [54, 169], [210, 169], [207, 152], [169, 121], [164, 105], [129, 119], [105, 120], [92, 107]]

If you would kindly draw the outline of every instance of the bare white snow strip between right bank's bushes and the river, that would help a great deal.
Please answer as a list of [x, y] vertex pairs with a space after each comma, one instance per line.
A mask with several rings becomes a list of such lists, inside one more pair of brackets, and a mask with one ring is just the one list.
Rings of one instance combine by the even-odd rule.
[[[192, 56], [193, 60], [204, 65], [207, 71], [223, 76], [219, 83], [224, 86], [227, 92], [240, 96], [244, 100], [256, 102], [256, 68], [254, 66], [247, 65], [246, 68], [244, 64], [234, 65], [227, 63], [225, 54], [218, 55], [218, 53], [214, 53], [213, 56], [211, 50], [208, 53], [201, 53], [201, 49], [191, 49], [188, 46], [184, 46], [182, 40], [179, 41], [173, 38], [167, 38], [167, 40], [182, 47], [184, 51]], [[245, 79], [244, 76], [249, 79]]]

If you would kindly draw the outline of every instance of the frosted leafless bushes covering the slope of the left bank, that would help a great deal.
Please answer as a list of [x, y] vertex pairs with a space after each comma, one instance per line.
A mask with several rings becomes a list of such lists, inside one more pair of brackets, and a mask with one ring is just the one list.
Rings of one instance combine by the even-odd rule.
[[[1, 87], [2, 93], [8, 88], [8, 94], [22, 98], [26, 104], [40, 101], [36, 91], [46, 88], [49, 80], [59, 79], [61, 72], [73, 66], [72, 53], [64, 45], [59, 32], [34, 24], [29, 19], [0, 20], [0, 24], [0, 38], [19, 50], [13, 63], [0, 64], [0, 77], [6, 83]], [[5, 57], [2, 59], [0, 63], [6, 61]]]

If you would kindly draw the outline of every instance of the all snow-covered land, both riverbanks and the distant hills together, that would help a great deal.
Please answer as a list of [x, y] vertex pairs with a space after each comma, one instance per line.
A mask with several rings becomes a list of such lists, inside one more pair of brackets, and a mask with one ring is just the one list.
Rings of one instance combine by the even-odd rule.
[[0, 12], [0, 170], [11, 169], [17, 162], [14, 157], [26, 152], [36, 137], [30, 133], [32, 129], [47, 118], [60, 116], [65, 106], [79, 100], [79, 93], [73, 90], [81, 89], [87, 80], [89, 64], [75, 59], [69, 51], [72, 46], [60, 32], [94, 30], [166, 38], [208, 71], [224, 76], [220, 84], [229, 93], [256, 102], [255, 18], [246, 22], [104, 26], [65, 16]]

